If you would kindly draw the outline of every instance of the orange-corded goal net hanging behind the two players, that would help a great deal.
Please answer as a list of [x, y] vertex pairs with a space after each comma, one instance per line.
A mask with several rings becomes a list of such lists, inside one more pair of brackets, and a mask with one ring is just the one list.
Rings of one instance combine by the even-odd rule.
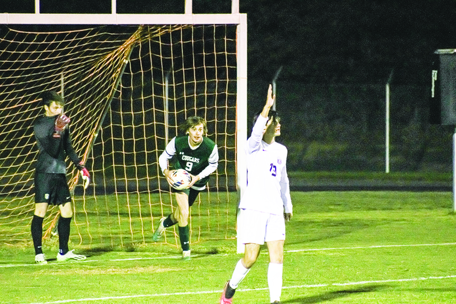
[[[220, 161], [192, 207], [191, 242], [234, 237], [236, 26], [59, 28], [0, 27], [0, 242], [31, 240], [33, 123], [44, 114], [45, 90], [64, 96], [73, 145], [93, 179], [84, 190], [68, 162], [73, 243], [153, 243], [159, 219], [176, 208], [158, 156], [193, 115], [206, 120]], [[50, 206], [45, 238], [58, 216]], [[176, 230], [164, 241], [178, 246]]]

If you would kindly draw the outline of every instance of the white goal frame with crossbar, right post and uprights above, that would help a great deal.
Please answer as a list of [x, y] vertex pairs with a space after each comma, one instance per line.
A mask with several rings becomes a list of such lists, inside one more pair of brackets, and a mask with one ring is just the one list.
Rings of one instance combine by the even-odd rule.
[[[193, 14], [192, 0], [185, 1], [184, 14], [117, 14], [111, 0], [111, 14], [0, 13], [0, 24], [8, 25], [237, 25], [236, 29], [236, 184], [238, 199], [247, 186], [247, 163], [243, 147], [247, 141], [247, 14], [239, 13], [239, 0], [231, 0], [229, 14]], [[238, 252], [243, 252], [237, 244]]]

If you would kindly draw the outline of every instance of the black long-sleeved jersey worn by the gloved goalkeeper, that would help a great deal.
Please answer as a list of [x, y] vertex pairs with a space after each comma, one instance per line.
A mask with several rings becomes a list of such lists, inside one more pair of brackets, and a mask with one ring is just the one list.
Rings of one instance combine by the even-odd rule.
[[67, 127], [61, 137], [54, 138], [56, 116], [44, 116], [35, 121], [33, 131], [38, 145], [38, 159], [35, 171], [40, 173], [66, 173], [65, 158], [68, 157], [77, 165], [79, 157], [71, 143], [70, 131]]

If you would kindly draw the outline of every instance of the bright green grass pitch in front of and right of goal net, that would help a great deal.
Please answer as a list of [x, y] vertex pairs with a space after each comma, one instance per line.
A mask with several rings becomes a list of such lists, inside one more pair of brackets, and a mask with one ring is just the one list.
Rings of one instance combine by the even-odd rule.
[[[293, 192], [282, 303], [456, 303], [456, 217], [450, 192]], [[53, 240], [53, 242], [56, 242]], [[53, 258], [57, 244], [48, 244]], [[31, 244], [0, 247], [0, 303], [215, 304], [235, 263], [234, 239], [109, 251], [34, 265]], [[234, 304], [267, 304], [266, 250]]]

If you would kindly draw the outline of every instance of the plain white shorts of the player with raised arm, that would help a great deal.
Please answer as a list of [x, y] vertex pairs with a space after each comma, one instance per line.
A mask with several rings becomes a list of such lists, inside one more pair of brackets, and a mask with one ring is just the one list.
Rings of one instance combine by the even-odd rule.
[[241, 209], [237, 217], [237, 237], [242, 244], [259, 244], [285, 239], [283, 215]]

